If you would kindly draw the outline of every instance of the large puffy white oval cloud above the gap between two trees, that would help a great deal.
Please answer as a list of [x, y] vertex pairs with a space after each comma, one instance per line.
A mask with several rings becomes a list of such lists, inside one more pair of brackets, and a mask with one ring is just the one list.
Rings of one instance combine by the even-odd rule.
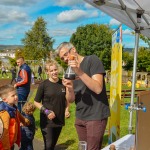
[[76, 9], [61, 12], [59, 15], [57, 15], [57, 20], [59, 22], [75, 22], [84, 17], [87, 17], [87, 12]]

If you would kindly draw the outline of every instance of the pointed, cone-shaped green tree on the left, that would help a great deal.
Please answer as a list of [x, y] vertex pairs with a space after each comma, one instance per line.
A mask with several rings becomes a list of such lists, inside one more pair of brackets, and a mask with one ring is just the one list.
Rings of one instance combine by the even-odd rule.
[[46, 24], [44, 19], [39, 17], [31, 30], [25, 33], [25, 38], [22, 39], [25, 59], [45, 60], [49, 56], [54, 40], [48, 35]]

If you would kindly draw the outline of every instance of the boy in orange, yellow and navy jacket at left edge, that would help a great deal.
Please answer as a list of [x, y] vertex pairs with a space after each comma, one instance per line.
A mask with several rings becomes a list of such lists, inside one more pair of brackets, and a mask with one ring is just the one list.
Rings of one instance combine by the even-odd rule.
[[13, 150], [14, 143], [20, 146], [20, 122], [29, 125], [30, 121], [24, 118], [15, 105], [18, 98], [12, 85], [0, 87], [0, 150]]

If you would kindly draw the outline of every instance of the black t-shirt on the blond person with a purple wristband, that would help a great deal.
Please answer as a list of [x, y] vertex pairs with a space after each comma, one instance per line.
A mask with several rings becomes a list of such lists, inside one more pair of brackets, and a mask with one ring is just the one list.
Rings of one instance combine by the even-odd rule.
[[35, 101], [42, 102], [45, 108], [54, 111], [56, 115], [53, 120], [49, 120], [45, 114], [40, 113], [40, 125], [42, 128], [64, 125], [66, 108], [65, 95], [66, 88], [62, 85], [61, 79], [57, 83], [53, 83], [47, 79], [39, 85]]

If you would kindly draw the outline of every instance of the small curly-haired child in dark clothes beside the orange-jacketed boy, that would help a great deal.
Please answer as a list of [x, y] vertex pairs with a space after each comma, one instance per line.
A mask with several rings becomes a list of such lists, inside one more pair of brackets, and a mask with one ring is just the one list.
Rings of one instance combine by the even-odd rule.
[[21, 126], [21, 148], [20, 150], [33, 150], [33, 139], [35, 134], [35, 119], [33, 113], [35, 106], [26, 102], [22, 108], [23, 116], [30, 120], [30, 126]]

